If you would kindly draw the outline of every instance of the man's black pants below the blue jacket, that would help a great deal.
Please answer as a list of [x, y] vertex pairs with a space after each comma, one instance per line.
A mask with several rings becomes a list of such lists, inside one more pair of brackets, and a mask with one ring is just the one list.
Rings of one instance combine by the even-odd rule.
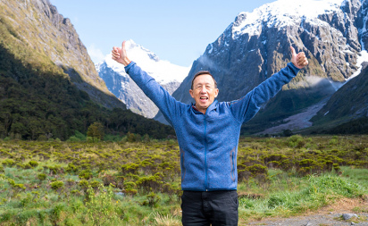
[[184, 226], [237, 226], [238, 194], [230, 191], [184, 191], [181, 196]]

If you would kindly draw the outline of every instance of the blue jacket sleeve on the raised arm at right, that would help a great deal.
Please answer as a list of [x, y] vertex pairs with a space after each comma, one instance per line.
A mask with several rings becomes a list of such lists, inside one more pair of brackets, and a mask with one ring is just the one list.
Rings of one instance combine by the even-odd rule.
[[246, 96], [230, 102], [231, 113], [241, 123], [251, 120], [261, 105], [275, 96], [283, 85], [296, 77], [298, 71], [299, 69], [293, 63], [288, 63], [285, 68], [264, 80]]

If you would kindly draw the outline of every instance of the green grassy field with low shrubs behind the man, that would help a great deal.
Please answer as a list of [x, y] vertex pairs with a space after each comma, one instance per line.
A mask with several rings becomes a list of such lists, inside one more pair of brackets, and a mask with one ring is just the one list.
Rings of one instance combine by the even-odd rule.
[[[181, 225], [175, 140], [7, 140], [0, 163], [0, 225]], [[241, 138], [239, 222], [366, 200], [366, 175], [368, 136]]]

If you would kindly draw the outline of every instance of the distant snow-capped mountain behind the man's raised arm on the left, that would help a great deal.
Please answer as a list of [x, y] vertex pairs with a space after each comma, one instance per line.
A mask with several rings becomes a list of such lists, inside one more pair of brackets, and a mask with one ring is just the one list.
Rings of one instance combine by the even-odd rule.
[[[144, 71], [152, 76], [170, 94], [179, 87], [188, 75], [189, 68], [163, 61], [157, 55], [143, 46], [129, 40], [125, 44], [130, 60], [136, 62]], [[111, 54], [107, 54], [105, 61], [96, 64], [96, 70], [105, 80], [107, 88], [127, 107], [135, 112], [153, 118], [158, 112], [155, 104], [146, 97], [129, 75], [125, 73], [124, 66], [113, 61]]]

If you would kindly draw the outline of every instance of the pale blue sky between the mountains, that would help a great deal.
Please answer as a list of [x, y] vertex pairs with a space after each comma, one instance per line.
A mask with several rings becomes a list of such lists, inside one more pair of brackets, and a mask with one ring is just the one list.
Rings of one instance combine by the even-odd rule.
[[50, 0], [70, 18], [94, 63], [132, 39], [180, 66], [190, 66], [240, 12], [274, 0]]

